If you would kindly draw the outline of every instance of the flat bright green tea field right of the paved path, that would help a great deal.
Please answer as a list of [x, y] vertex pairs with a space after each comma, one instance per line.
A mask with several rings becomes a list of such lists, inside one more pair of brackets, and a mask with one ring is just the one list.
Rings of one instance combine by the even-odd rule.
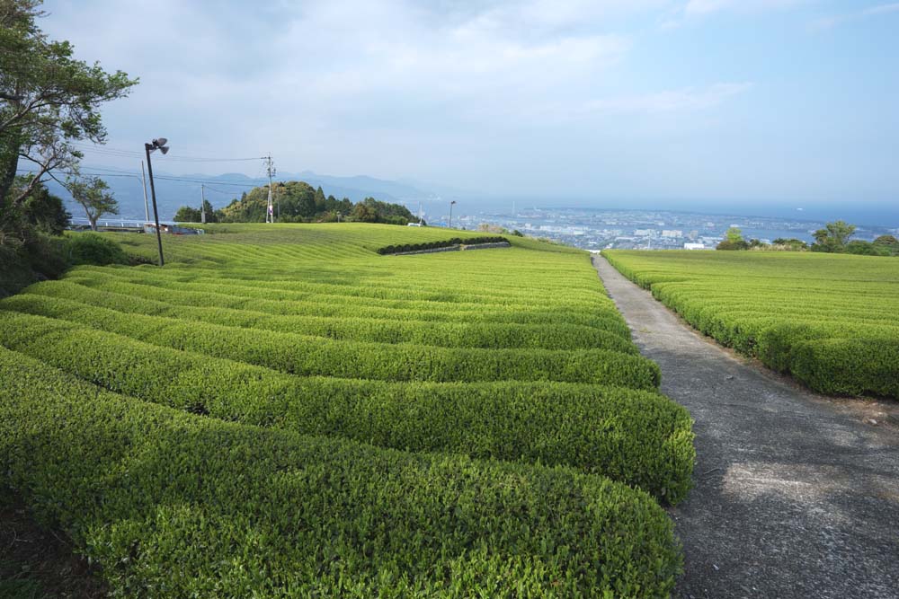
[[899, 260], [763, 251], [604, 251], [723, 345], [812, 389], [899, 398]]

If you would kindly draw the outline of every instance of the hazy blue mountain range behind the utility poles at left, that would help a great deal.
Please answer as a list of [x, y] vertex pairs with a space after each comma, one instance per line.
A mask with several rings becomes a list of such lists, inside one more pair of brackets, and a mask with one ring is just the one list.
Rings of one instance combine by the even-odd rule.
[[[82, 170], [83, 172], [92, 172], [86, 165]], [[205, 184], [206, 199], [213, 207], [218, 208], [227, 206], [232, 199], [240, 198], [244, 191], [268, 184], [268, 179], [247, 177], [239, 172], [220, 175], [172, 175], [166, 172], [155, 172], [154, 175], [159, 218], [164, 221], [171, 220], [179, 207], [199, 207], [201, 185]], [[102, 178], [109, 183], [116, 199], [119, 200], [121, 218], [126, 220], [144, 219], [144, 192], [140, 175], [113, 176], [110, 174]], [[350, 198], [353, 202], [359, 202], [365, 198], [375, 198], [385, 202], [405, 204], [412, 208], [417, 208], [417, 203], [420, 201], [433, 201], [439, 197], [439, 194], [434, 191], [420, 189], [408, 182], [388, 181], [366, 175], [334, 177], [311, 171], [284, 172], [276, 177], [276, 181], [306, 181], [312, 187], [321, 186], [325, 191], [325, 196], [333, 195], [338, 199]], [[67, 209], [72, 216], [84, 216], [83, 208], [71, 199], [66, 189], [56, 181], [49, 181], [47, 185], [52, 193], [66, 200]], [[147, 181], [147, 196], [149, 196], [149, 181]], [[153, 217], [152, 205], [150, 217]]]

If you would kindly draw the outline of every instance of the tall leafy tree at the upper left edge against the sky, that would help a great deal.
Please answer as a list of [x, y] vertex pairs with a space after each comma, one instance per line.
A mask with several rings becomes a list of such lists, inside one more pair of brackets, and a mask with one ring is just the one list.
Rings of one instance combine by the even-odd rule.
[[[18, 210], [48, 172], [76, 166], [73, 142], [106, 139], [100, 104], [128, 94], [137, 79], [73, 58], [67, 41], [50, 41], [36, 20], [40, 0], [0, 0], [0, 202]], [[11, 194], [19, 161], [35, 176]]]

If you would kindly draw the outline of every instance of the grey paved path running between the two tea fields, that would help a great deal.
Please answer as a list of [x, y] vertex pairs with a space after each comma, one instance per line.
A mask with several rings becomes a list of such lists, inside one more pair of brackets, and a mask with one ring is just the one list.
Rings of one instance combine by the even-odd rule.
[[670, 510], [686, 557], [674, 596], [899, 597], [899, 429], [868, 420], [895, 402], [799, 389], [593, 264], [662, 391], [696, 420], [694, 486]]

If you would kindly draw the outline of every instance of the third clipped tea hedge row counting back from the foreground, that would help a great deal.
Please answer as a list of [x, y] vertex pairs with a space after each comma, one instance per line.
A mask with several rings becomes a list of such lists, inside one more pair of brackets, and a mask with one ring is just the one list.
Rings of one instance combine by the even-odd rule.
[[661, 371], [641, 356], [605, 349], [433, 348], [321, 339], [291, 333], [182, 322], [119, 313], [38, 295], [18, 295], [4, 309], [85, 322], [155, 345], [224, 357], [299, 375], [381, 381], [565, 381], [654, 389]]

